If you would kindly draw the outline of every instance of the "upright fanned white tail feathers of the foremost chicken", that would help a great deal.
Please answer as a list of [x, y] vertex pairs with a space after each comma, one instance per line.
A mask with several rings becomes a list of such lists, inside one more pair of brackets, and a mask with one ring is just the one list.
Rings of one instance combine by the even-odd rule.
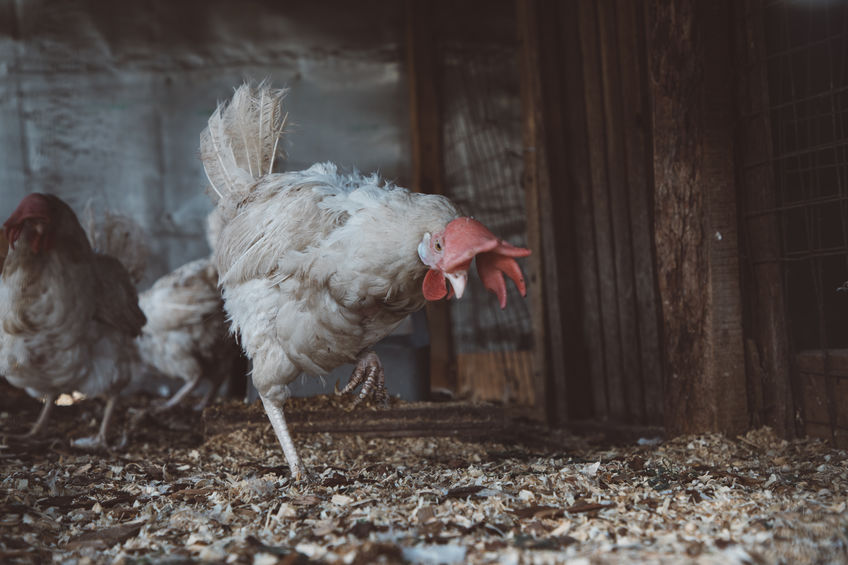
[[235, 209], [257, 180], [274, 171], [288, 116], [285, 94], [266, 82], [245, 83], [209, 118], [200, 156], [219, 207]]

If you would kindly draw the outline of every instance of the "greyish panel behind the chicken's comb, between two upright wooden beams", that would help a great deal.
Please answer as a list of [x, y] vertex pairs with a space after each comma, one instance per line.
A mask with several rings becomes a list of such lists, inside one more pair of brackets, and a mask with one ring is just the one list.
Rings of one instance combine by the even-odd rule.
[[[440, 3], [442, 156], [446, 194], [510, 243], [527, 246], [518, 48], [509, 2], [486, 4], [492, 17]], [[466, 18], [470, 18], [468, 20]], [[468, 30], [474, 29], [473, 37]], [[518, 404], [533, 402], [529, 302], [507, 283], [507, 307], [469, 277], [469, 292], [450, 306], [460, 393]]]

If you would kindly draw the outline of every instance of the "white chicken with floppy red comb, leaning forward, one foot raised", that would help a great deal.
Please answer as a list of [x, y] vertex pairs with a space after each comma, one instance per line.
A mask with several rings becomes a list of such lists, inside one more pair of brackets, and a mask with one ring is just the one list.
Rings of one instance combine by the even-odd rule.
[[377, 175], [332, 164], [274, 174], [283, 92], [241, 86], [201, 134], [221, 230], [215, 260], [227, 312], [253, 361], [259, 391], [293, 475], [304, 472], [283, 403], [299, 374], [356, 363], [346, 390], [381, 391], [370, 347], [406, 316], [449, 293], [461, 297], [472, 259], [506, 305], [507, 274], [526, 249], [460, 217], [442, 196], [410, 193]]

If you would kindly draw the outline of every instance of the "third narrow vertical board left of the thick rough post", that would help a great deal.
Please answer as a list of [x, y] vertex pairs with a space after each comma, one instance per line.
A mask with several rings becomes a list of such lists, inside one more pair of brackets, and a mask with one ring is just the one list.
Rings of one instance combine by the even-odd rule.
[[611, 203], [607, 192], [609, 179], [607, 177], [604, 143], [606, 123], [602, 104], [603, 84], [600, 75], [598, 18], [593, 1], [578, 1], [578, 21], [580, 52], [583, 57], [588, 163], [594, 220], [593, 232], [597, 253], [596, 269], [600, 294], [601, 327], [603, 329], [606, 398], [610, 419], [622, 421], [626, 417], [627, 407], [624, 401], [624, 365], [618, 326], [615, 243], [612, 237]]

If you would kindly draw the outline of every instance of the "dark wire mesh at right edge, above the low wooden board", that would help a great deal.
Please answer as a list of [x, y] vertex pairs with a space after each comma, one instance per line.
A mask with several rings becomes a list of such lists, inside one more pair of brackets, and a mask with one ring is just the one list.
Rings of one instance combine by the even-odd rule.
[[764, 17], [792, 339], [848, 347], [848, 5], [771, 2]]

